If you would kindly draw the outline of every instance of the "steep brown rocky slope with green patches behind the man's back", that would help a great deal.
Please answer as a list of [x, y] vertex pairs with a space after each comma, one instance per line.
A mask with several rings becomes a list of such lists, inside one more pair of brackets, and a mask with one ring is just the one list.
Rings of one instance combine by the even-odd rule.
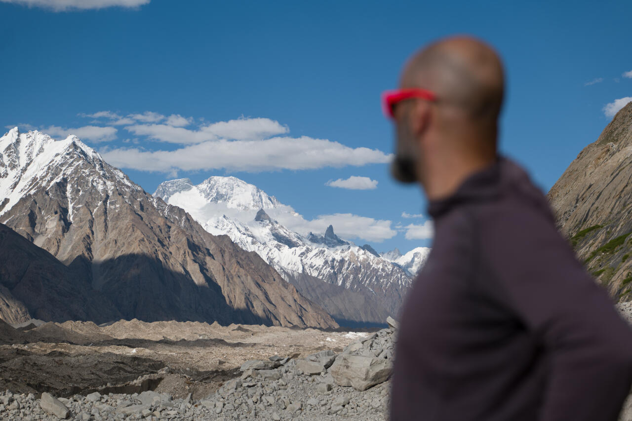
[[632, 102], [549, 192], [562, 233], [617, 301], [632, 299]]

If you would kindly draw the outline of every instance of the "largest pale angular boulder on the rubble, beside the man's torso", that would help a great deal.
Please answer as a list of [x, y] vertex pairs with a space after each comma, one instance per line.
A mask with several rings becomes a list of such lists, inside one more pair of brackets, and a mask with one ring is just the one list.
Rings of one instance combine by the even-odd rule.
[[336, 358], [329, 372], [339, 386], [351, 386], [363, 391], [386, 381], [392, 371], [392, 363], [384, 358], [342, 354]]

